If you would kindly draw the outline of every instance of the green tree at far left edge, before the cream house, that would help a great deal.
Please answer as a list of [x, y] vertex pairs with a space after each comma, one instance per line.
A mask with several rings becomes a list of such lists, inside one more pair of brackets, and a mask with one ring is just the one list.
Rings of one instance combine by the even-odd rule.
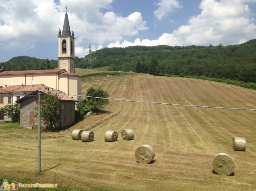
[[3, 108], [0, 108], [0, 113], [11, 118], [13, 122], [20, 122], [20, 104], [18, 103], [5, 105]]

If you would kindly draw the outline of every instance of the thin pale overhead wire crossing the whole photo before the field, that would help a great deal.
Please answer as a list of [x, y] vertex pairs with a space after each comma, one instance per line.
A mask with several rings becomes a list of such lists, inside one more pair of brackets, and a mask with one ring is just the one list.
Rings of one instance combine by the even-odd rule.
[[[2, 83], [0, 83], [2, 84]], [[7, 84], [2, 84], [7, 85]], [[7, 85], [10, 86], [10, 85]], [[17, 86], [14, 86], [17, 87]], [[24, 88], [24, 87], [20, 87]], [[24, 88], [29, 89], [29, 88]], [[30, 89], [33, 91], [39, 91], [35, 89]], [[53, 91], [47, 91], [47, 90], [40, 90], [41, 92], [51, 92], [51, 93], [59, 93], [59, 94], [65, 94], [62, 92], [53, 92]], [[138, 103], [150, 103], [150, 104], [161, 104], [161, 105], [174, 105], [174, 106], [186, 106], [186, 107], [201, 107], [201, 108], [212, 108], [212, 109], [232, 109], [232, 110], [246, 110], [246, 111], [256, 111], [256, 109], [246, 109], [246, 108], [232, 108], [232, 107], [218, 107], [218, 106], [204, 106], [204, 105], [184, 105], [184, 104], [176, 104], [176, 103], [162, 103], [162, 102], [146, 102], [146, 101], [138, 101], [138, 100], [129, 100], [129, 99], [117, 99], [117, 98], [102, 98], [102, 97], [95, 97], [95, 96], [87, 96], [87, 95], [76, 95], [76, 94], [65, 94], [65, 95], [74, 95], [74, 96], [80, 96], [80, 97], [86, 97], [86, 98], [96, 98], [96, 99], [107, 99], [107, 100], [114, 100], [114, 101], [124, 101], [124, 102], [138, 102]]]

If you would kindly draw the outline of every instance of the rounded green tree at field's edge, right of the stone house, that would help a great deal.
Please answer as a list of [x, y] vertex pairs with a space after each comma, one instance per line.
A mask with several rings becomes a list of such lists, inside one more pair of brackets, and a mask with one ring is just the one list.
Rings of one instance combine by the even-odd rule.
[[[94, 89], [90, 87], [87, 90], [87, 96], [92, 97], [101, 97], [101, 98], [108, 98], [109, 94], [103, 90], [101, 87]], [[99, 110], [103, 109], [105, 105], [109, 103], [108, 99], [99, 99], [99, 98], [90, 98], [87, 97], [86, 105], [92, 110], [98, 112]]]

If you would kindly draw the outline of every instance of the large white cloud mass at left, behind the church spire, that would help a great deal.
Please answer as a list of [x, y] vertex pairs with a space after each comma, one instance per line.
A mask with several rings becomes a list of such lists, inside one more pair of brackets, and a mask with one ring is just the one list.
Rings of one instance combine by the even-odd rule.
[[[4, 48], [25, 46], [24, 49], [28, 49], [33, 48], [36, 42], [57, 40], [58, 29], [62, 31], [66, 5], [78, 49], [85, 41], [103, 44], [147, 30], [146, 21], [139, 12], [123, 17], [108, 11], [112, 1], [60, 0], [55, 3], [54, 0], [0, 0], [1, 44]], [[102, 9], [107, 12], [102, 13]]]

